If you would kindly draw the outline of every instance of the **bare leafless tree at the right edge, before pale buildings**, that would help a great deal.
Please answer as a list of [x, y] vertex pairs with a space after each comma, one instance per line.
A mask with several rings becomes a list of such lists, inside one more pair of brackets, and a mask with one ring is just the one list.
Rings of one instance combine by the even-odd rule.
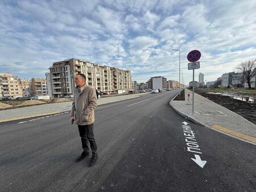
[[236, 69], [243, 73], [243, 82], [247, 82], [249, 88], [251, 88], [251, 78], [254, 77], [256, 72], [256, 59], [241, 62]]

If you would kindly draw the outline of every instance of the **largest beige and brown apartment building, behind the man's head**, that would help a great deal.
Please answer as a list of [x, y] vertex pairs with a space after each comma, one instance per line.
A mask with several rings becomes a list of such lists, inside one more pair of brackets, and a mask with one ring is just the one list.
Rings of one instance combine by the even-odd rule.
[[130, 70], [122, 70], [109, 66], [100, 66], [88, 61], [69, 59], [53, 62], [47, 78], [50, 80], [52, 97], [73, 94], [77, 73], [86, 76], [86, 83], [93, 89], [106, 93], [123, 93], [131, 90]]

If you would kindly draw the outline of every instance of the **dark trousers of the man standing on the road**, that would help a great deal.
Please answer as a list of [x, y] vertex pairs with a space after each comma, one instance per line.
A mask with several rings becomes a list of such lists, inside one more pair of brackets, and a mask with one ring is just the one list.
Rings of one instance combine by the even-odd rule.
[[[93, 155], [97, 154], [97, 144], [93, 134], [93, 123], [85, 126], [79, 125], [78, 127], [79, 127], [79, 135], [82, 141], [82, 148], [84, 149], [84, 151], [89, 152], [90, 150], [92, 150]], [[88, 141], [90, 143], [90, 149], [89, 149]]]

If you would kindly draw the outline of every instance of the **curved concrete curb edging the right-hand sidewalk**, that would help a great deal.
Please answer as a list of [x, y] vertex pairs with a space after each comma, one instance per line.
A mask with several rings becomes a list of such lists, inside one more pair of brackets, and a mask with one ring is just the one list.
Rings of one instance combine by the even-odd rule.
[[[177, 95], [176, 95], [175, 97], [177, 97]], [[208, 125], [205, 124], [205, 123], [199, 122], [198, 120], [196, 120], [195, 118], [193, 118], [193, 117], [191, 117], [191, 116], [189, 116], [189, 115], [183, 114], [179, 109], [177, 109], [177, 108], [176, 108], [174, 105], [172, 105], [172, 103], [171, 103], [171, 102], [175, 99], [175, 97], [171, 99], [171, 101], [169, 102], [169, 106], [172, 107], [180, 116], [183, 116], [185, 119], [190, 120], [191, 122], [194, 122], [194, 123], [196, 123], [196, 124], [200, 124], [201, 126], [210, 128], [211, 130], [214, 130], [214, 131], [223, 133], [224, 135], [228, 135], [228, 136], [233, 137], [233, 138], [235, 138], [235, 139], [238, 139], [238, 140], [241, 140], [241, 141], [245, 141], [246, 143], [250, 143], [250, 144], [256, 145], [256, 142], [250, 141], [250, 140], [251, 140], [251, 136], [250, 136], [250, 138], [248, 138], [248, 139], [250, 139], [250, 140], [247, 140], [247, 139], [245, 138], [247, 135], [245, 135], [245, 134], [240, 133], [240, 134], [241, 134], [241, 137], [238, 137], [238, 136], [236, 136], [236, 135], [232, 135], [232, 134], [228, 133], [228, 131], [225, 132], [226, 130], [229, 130], [228, 128], [218, 130], [217, 128], [210, 127], [210, 126], [208, 126]], [[222, 130], [222, 131], [221, 131], [221, 130]], [[229, 132], [230, 132], [230, 131], [232, 131], [232, 130], [229, 130]], [[256, 139], [255, 137], [253, 137], [253, 138]]]

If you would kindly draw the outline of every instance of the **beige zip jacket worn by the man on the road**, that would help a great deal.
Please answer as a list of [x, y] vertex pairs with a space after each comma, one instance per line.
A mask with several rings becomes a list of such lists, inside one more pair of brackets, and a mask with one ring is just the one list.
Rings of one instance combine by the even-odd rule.
[[82, 92], [76, 87], [70, 116], [75, 116], [76, 124], [84, 126], [94, 123], [94, 108], [97, 107], [96, 91], [88, 85], [81, 87]]

